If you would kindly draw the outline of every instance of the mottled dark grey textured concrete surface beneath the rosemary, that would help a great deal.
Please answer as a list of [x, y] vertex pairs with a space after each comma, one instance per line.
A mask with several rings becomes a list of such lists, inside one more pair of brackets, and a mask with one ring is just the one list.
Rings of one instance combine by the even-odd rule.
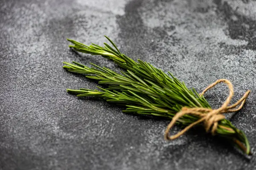
[[[234, 101], [250, 89], [244, 109], [227, 118], [256, 148], [256, 1], [1, 0], [0, 169], [256, 168], [255, 156], [247, 159], [204, 130], [166, 142], [169, 121], [67, 94], [66, 88], [96, 84], [64, 71], [61, 62], [116, 67], [75, 54], [65, 39], [102, 44], [103, 35], [124, 54], [171, 71], [198, 92], [220, 78], [233, 82]], [[217, 108], [227, 92], [219, 85], [206, 97]]]

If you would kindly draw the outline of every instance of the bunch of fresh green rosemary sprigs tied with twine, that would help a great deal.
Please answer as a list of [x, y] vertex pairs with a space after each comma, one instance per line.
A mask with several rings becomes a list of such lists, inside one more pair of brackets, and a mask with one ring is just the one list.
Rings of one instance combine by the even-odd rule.
[[[184, 82], [180, 82], [170, 72], [167, 75], [162, 70], [140, 59], [135, 62], [122, 54], [116, 45], [108, 37], [106, 38], [111, 42], [113, 48], [107, 43], [101, 47], [96, 44], [88, 46], [74, 40], [67, 40], [73, 43], [70, 47], [74, 50], [108, 58], [124, 68], [125, 71], [121, 71], [119, 74], [93, 63], [90, 64], [94, 67], [87, 67], [78, 62], [73, 62], [73, 64], [64, 62], [66, 65], [63, 68], [68, 71], [86, 74], [87, 78], [107, 85], [107, 88], [97, 86], [101, 91], [81, 88], [80, 90], [67, 89], [68, 92], [77, 94], [79, 97], [102, 97], [107, 102], [125, 105], [126, 110], [123, 111], [125, 113], [161, 116], [166, 119], [172, 119], [183, 107], [211, 108], [204, 96], [199, 95], [194, 88], [188, 89]], [[198, 116], [187, 114], [177, 119], [176, 123], [186, 126], [198, 119]], [[251, 154], [245, 134], [227, 119], [218, 122], [215, 133], [230, 140], [243, 153]]]

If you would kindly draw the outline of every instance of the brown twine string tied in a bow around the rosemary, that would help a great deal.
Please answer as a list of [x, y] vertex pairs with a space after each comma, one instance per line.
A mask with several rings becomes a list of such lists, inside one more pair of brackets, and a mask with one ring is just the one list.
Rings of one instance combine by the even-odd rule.
[[[183, 107], [181, 109], [180, 112], [178, 112], [173, 118], [172, 121], [170, 122], [170, 124], [167, 126], [167, 129], [165, 131], [165, 139], [169, 139], [169, 140], [173, 140], [176, 139], [178, 137], [180, 137], [181, 135], [183, 135], [187, 130], [189, 130], [191, 127], [197, 125], [198, 123], [204, 122], [204, 126], [205, 126], [205, 130], [207, 132], [209, 132], [209, 130], [211, 129], [211, 133], [212, 135], [215, 135], [215, 131], [218, 127], [218, 121], [225, 119], [225, 116], [223, 115], [223, 113], [230, 113], [230, 112], [236, 112], [239, 111], [243, 105], [245, 100], [247, 99], [248, 95], [250, 94], [250, 91], [247, 91], [244, 96], [239, 99], [239, 101], [237, 101], [234, 105], [228, 106], [230, 104], [230, 101], [234, 95], [234, 90], [233, 90], [233, 85], [231, 84], [230, 81], [228, 81], [227, 79], [218, 79], [216, 82], [212, 83], [211, 85], [209, 85], [201, 94], [204, 95], [205, 92], [207, 92], [209, 89], [213, 88], [215, 85], [217, 85], [218, 83], [224, 82], [225, 84], [227, 84], [228, 88], [229, 88], [229, 96], [227, 97], [226, 101], [223, 103], [223, 105], [218, 108], [218, 109], [209, 109], [209, 108], [186, 108]], [[237, 105], [241, 104], [238, 108], [235, 108]], [[175, 125], [175, 122], [177, 122], [177, 120], [186, 115], [186, 114], [190, 114], [190, 115], [195, 115], [198, 116], [200, 119], [190, 125], [188, 125], [187, 127], [185, 127], [183, 130], [181, 130], [179, 133], [173, 135], [173, 136], [169, 136], [169, 131], [170, 129]]]

